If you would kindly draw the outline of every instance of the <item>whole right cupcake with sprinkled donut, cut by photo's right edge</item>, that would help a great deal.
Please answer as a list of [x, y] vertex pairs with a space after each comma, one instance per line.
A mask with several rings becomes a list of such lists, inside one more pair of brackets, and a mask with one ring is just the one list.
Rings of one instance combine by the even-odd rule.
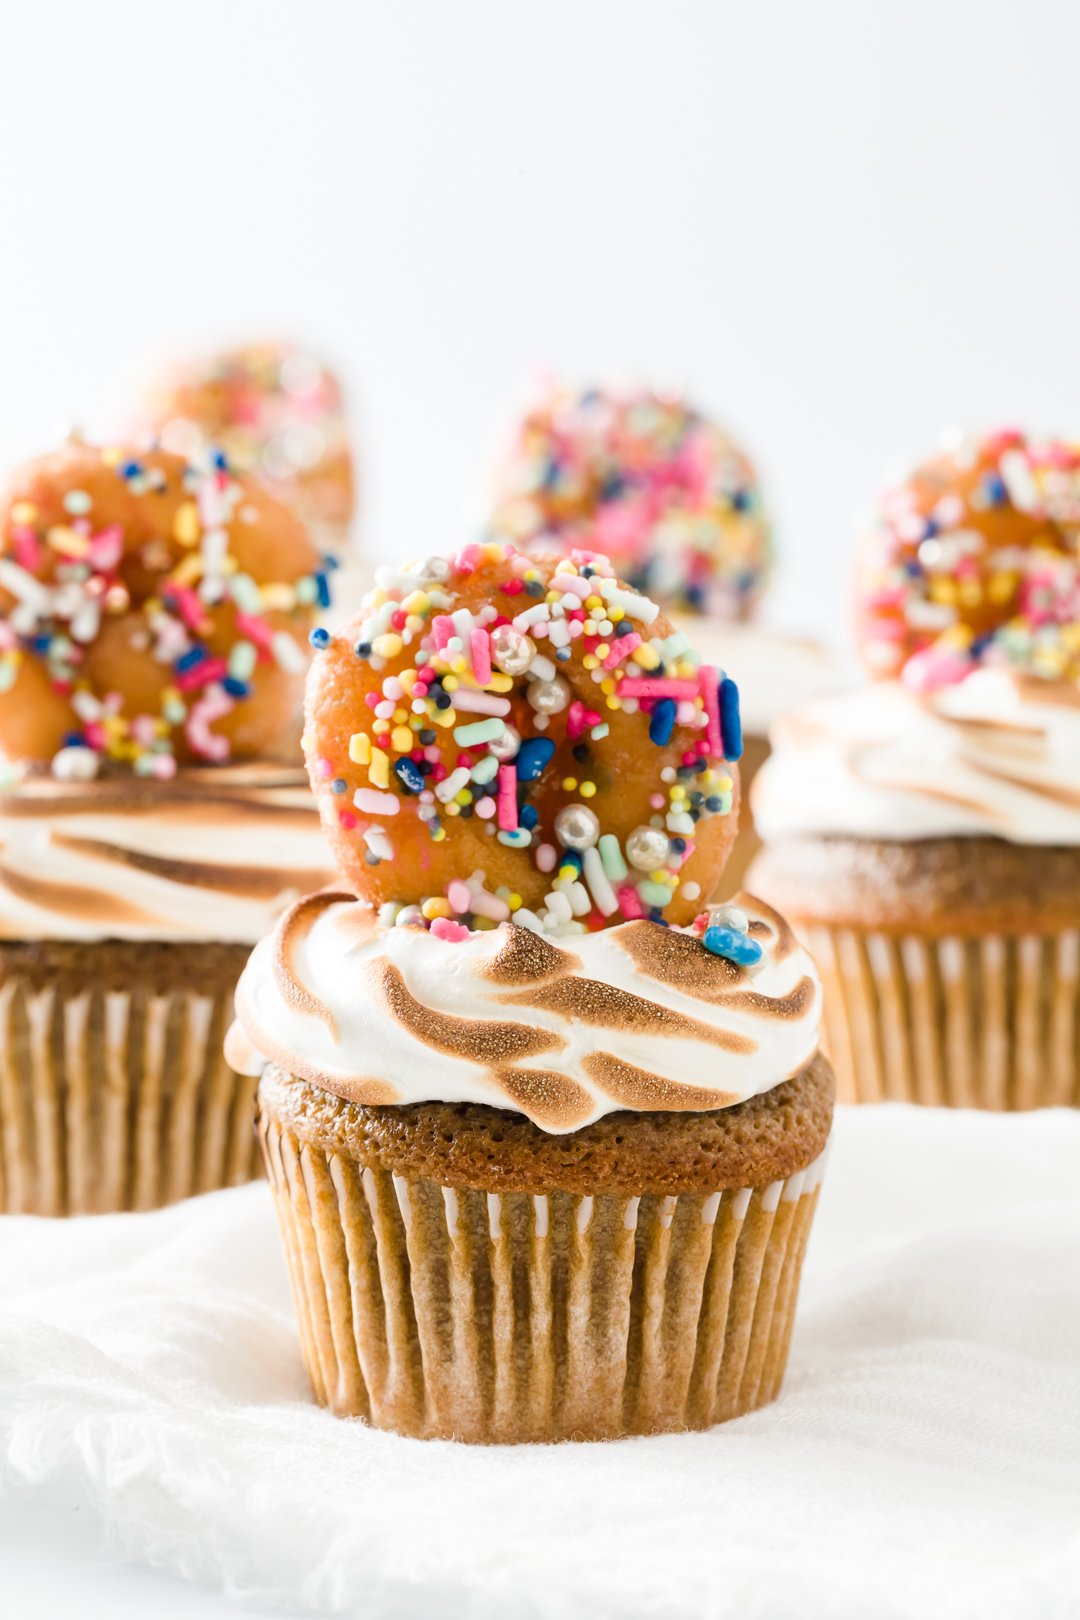
[[1069, 447], [954, 446], [866, 543], [876, 679], [774, 732], [750, 883], [818, 959], [845, 1098], [1080, 1103], [1078, 539]]

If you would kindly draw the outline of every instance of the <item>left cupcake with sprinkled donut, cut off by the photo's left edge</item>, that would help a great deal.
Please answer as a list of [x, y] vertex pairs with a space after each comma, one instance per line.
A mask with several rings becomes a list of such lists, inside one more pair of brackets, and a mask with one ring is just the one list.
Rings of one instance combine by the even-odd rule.
[[[325, 575], [228, 471], [68, 444], [0, 502], [0, 1209], [256, 1173], [232, 991], [327, 850], [288, 747]], [[274, 753], [296, 763], [272, 763]]]

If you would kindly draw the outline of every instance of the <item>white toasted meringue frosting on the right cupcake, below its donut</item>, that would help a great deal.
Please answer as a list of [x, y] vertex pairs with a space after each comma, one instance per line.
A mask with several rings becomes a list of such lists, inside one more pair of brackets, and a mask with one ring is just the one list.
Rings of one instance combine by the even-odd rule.
[[1080, 846], [1080, 688], [978, 669], [876, 682], [792, 711], [751, 802], [766, 842], [983, 836]]

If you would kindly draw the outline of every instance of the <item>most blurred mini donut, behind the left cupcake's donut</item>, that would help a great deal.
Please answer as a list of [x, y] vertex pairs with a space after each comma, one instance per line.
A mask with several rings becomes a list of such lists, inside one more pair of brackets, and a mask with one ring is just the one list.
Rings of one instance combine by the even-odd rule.
[[167, 450], [220, 447], [316, 530], [353, 518], [353, 458], [338, 379], [288, 343], [251, 343], [178, 368], [151, 395]]

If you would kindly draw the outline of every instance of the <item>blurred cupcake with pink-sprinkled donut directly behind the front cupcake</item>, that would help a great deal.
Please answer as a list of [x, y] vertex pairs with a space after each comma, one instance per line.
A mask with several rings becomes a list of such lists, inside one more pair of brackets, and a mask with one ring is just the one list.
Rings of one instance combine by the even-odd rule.
[[[748, 693], [743, 789], [792, 693], [836, 682], [810, 640], [753, 622], [772, 535], [753, 462], [685, 399], [651, 389], [549, 389], [523, 418], [502, 468], [491, 531], [529, 551], [606, 552], [701, 654]], [[758, 847], [748, 799], [725, 885]]]

